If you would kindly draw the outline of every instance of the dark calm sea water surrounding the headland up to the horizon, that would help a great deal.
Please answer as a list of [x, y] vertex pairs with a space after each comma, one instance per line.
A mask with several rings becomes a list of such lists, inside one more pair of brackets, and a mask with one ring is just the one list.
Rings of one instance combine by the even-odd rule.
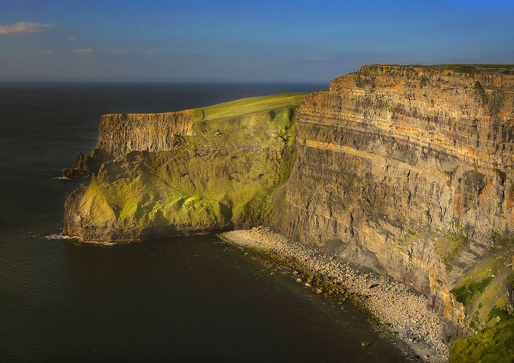
[[[0, 83], [0, 361], [397, 362], [361, 315], [216, 236], [52, 239], [100, 116], [328, 84]], [[369, 341], [363, 347], [362, 341]]]

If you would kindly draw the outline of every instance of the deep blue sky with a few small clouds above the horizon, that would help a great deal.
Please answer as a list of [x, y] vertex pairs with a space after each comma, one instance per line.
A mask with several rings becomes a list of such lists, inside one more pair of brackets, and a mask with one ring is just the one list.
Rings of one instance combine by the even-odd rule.
[[513, 64], [514, 2], [16, 0], [0, 80], [328, 81], [363, 64]]

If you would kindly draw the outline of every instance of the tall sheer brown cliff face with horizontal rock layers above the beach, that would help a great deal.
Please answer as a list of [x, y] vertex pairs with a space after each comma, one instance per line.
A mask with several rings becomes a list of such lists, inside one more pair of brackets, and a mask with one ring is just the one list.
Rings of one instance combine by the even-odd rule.
[[446, 339], [466, 335], [469, 307], [449, 291], [488, 278], [475, 264], [514, 231], [513, 86], [512, 75], [364, 66], [308, 95], [276, 227], [425, 292], [456, 323]]

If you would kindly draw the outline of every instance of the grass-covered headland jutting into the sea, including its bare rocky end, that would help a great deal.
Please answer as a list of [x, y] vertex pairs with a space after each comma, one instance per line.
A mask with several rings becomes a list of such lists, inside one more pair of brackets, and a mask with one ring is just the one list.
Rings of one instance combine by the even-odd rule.
[[263, 223], [290, 174], [303, 97], [104, 116], [94, 152], [77, 164], [106, 162], [86, 165], [96, 176], [67, 195], [63, 234], [123, 242]]

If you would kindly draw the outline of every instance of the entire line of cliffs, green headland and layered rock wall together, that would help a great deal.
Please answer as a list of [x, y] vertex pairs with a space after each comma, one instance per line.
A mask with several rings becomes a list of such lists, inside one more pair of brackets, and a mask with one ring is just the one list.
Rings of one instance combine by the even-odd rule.
[[264, 223], [423, 292], [448, 342], [512, 332], [514, 75], [468, 68], [363, 66], [289, 104], [105, 116], [77, 165], [108, 162], [68, 195], [63, 233]]

